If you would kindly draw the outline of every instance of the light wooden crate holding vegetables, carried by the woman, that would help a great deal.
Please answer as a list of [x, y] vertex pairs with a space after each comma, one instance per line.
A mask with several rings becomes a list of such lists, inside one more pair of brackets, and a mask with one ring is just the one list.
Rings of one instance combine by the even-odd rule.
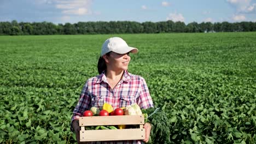
[[[131, 129], [85, 130], [86, 126], [96, 125], [139, 125]], [[80, 141], [118, 141], [118, 140], [144, 140], [144, 116], [92, 116], [80, 117]]]

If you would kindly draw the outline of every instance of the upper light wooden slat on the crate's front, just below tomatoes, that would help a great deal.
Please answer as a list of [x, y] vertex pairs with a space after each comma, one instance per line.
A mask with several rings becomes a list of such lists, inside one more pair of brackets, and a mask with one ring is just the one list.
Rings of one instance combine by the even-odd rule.
[[80, 126], [144, 124], [143, 115], [80, 117]]

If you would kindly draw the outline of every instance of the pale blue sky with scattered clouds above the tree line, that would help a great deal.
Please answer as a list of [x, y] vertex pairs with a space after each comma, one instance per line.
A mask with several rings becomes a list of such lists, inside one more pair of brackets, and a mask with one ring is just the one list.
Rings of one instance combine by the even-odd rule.
[[256, 0], [0, 0], [0, 21], [256, 22]]

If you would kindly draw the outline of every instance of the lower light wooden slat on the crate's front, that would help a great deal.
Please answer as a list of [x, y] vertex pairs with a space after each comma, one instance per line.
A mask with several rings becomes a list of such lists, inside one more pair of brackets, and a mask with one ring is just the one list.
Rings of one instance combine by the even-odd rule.
[[[84, 132], [84, 133], [83, 133]], [[144, 140], [145, 129], [109, 129], [80, 131], [80, 141]]]

